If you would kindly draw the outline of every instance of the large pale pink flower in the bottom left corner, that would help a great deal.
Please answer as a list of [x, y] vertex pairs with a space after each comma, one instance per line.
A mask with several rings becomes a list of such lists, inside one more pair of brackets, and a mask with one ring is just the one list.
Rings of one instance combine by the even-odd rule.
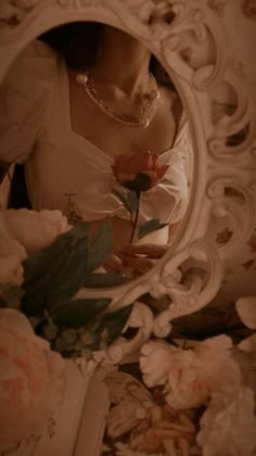
[[0, 449], [43, 431], [61, 398], [63, 368], [23, 314], [0, 309]]

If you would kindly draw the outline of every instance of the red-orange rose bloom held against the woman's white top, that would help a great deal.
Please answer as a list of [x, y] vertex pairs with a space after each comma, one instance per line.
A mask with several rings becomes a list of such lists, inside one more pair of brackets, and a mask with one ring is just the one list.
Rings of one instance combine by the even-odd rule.
[[151, 151], [115, 156], [113, 174], [118, 182], [129, 190], [146, 191], [159, 182], [168, 168], [168, 165], [159, 166], [157, 159], [158, 156]]

